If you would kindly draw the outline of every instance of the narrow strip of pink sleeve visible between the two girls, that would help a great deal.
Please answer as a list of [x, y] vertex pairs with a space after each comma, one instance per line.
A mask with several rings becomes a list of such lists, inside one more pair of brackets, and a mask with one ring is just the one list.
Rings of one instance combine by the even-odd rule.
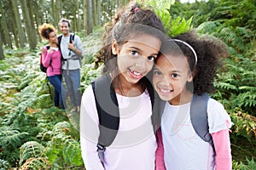
[[160, 128], [156, 131], [157, 149], [155, 150], [155, 170], [166, 170], [164, 161], [164, 146]]

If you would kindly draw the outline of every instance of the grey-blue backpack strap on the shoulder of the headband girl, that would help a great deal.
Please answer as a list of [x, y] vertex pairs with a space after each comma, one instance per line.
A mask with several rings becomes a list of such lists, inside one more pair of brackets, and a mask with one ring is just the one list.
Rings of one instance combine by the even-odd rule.
[[198, 136], [200, 136], [204, 141], [209, 142], [214, 150], [212, 135], [209, 133], [207, 115], [207, 105], [209, 99], [210, 96], [208, 94], [194, 94], [190, 107], [190, 119]]

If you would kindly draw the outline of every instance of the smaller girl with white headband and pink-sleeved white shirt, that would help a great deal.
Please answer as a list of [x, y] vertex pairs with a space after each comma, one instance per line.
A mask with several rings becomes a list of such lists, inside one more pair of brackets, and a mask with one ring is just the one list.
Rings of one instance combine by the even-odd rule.
[[193, 95], [211, 93], [214, 89], [218, 57], [228, 54], [224, 43], [196, 37], [191, 31], [165, 42], [160, 53], [153, 83], [160, 98], [168, 100], [161, 117], [166, 169], [231, 169], [232, 122], [224, 106], [211, 98], [207, 103], [207, 122], [214, 148], [195, 133], [190, 120]]

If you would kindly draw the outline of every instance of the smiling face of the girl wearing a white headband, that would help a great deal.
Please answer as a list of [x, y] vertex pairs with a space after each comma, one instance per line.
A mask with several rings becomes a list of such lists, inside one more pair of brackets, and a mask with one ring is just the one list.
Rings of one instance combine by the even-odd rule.
[[188, 93], [186, 83], [192, 80], [185, 56], [161, 54], [157, 59], [153, 71], [153, 84], [160, 99], [168, 101], [173, 99], [177, 100], [172, 101], [173, 104], [180, 104], [183, 94]]

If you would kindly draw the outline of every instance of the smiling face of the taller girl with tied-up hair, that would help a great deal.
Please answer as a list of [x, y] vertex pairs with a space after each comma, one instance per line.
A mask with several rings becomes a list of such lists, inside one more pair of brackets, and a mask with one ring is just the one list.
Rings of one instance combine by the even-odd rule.
[[117, 65], [121, 83], [137, 83], [152, 69], [160, 50], [159, 38], [140, 34], [121, 46], [113, 41], [112, 52], [117, 54]]

